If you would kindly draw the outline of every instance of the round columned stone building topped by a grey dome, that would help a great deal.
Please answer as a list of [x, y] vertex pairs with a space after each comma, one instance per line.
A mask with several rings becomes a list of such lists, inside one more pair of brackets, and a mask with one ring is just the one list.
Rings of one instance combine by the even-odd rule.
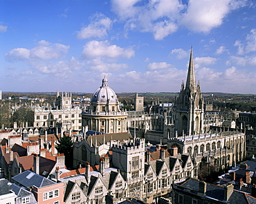
[[82, 127], [101, 133], [127, 131], [127, 113], [119, 108], [116, 93], [109, 87], [107, 78], [91, 98], [88, 111], [82, 112]]

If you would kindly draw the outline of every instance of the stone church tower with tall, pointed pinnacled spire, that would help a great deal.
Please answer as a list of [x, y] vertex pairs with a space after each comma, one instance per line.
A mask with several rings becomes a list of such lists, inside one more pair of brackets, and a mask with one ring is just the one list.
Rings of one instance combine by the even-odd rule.
[[188, 76], [184, 87], [174, 103], [174, 125], [178, 136], [203, 133], [203, 96], [200, 84], [196, 85], [194, 74], [194, 59], [191, 48]]

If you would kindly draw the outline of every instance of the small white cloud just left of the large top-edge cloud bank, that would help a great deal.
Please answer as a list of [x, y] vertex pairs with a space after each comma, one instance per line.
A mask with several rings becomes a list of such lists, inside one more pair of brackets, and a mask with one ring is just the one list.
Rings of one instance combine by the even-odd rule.
[[77, 32], [78, 39], [88, 39], [98, 37], [100, 39], [107, 37], [107, 30], [111, 28], [112, 21], [101, 13], [93, 16], [91, 24]]

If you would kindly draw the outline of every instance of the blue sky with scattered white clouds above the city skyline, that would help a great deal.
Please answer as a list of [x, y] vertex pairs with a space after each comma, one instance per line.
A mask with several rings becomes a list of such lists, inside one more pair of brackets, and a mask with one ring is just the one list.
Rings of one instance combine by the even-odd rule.
[[256, 94], [254, 0], [0, 0], [0, 90]]

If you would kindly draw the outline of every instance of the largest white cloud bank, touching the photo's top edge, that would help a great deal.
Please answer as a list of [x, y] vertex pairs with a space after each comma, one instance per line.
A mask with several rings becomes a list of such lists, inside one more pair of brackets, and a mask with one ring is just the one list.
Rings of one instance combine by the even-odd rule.
[[232, 10], [248, 4], [246, 0], [190, 0], [188, 5], [179, 0], [111, 1], [113, 12], [125, 21], [127, 30], [153, 33], [156, 40], [176, 32], [179, 26], [208, 33], [220, 26]]

